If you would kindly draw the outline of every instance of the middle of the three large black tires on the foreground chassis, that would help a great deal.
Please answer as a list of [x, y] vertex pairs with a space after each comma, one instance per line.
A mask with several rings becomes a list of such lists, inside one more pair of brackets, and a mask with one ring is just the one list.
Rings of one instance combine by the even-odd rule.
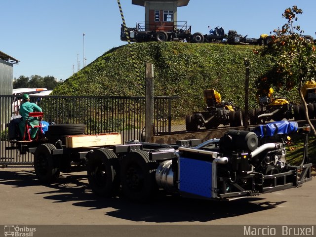
[[119, 190], [119, 163], [116, 154], [108, 149], [95, 150], [88, 161], [87, 176], [92, 192], [113, 197]]

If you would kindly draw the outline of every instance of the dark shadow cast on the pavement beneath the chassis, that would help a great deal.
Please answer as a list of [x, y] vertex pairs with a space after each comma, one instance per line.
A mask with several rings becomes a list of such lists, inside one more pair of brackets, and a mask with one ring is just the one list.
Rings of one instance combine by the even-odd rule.
[[[41, 186], [33, 170], [0, 171], [0, 185], [12, 188]], [[90, 210], [104, 209], [104, 214], [121, 219], [148, 222], [207, 222], [211, 220], [241, 216], [248, 213], [275, 208], [281, 202], [264, 201], [264, 198], [249, 197], [233, 201], [196, 200], [167, 195], [163, 191], [147, 203], [135, 203], [121, 197], [103, 198], [94, 195], [89, 189], [84, 172], [61, 174], [58, 183], [47, 186], [49, 192], [36, 193], [46, 195], [44, 198], [58, 202], [85, 207]], [[108, 211], [107, 208], [111, 208]], [[112, 211], [113, 209], [115, 211]]]

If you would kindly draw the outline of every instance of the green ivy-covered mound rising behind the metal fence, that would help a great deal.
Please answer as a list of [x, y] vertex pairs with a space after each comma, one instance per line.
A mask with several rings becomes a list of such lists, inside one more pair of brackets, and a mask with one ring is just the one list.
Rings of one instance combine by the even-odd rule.
[[[267, 71], [270, 60], [253, 53], [259, 46], [147, 42], [131, 45], [140, 78], [145, 63], [154, 65], [154, 94], [180, 96], [173, 117], [203, 110], [203, 90], [217, 90], [222, 100], [244, 107], [245, 66], [250, 63], [250, 107], [258, 107], [254, 80]], [[128, 45], [113, 48], [56, 87], [52, 95], [139, 96], [137, 76]], [[294, 92], [294, 91], [293, 91]], [[294, 94], [285, 94], [289, 99]], [[285, 92], [282, 92], [285, 93]], [[278, 95], [282, 95], [279, 92]]]

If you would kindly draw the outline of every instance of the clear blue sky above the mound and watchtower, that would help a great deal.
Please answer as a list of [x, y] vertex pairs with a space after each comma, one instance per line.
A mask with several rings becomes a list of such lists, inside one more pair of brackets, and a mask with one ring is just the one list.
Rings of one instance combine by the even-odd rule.
[[[120, 0], [127, 27], [145, 20], [145, 8]], [[208, 33], [208, 26], [236, 30], [259, 38], [281, 27], [287, 7], [302, 8], [297, 24], [316, 38], [316, 0], [190, 0], [178, 8], [178, 21], [192, 33]], [[117, 0], [1, 0], [0, 51], [19, 60], [13, 78], [53, 76], [67, 79], [120, 41], [122, 23]], [[84, 34], [84, 36], [83, 36]]]

